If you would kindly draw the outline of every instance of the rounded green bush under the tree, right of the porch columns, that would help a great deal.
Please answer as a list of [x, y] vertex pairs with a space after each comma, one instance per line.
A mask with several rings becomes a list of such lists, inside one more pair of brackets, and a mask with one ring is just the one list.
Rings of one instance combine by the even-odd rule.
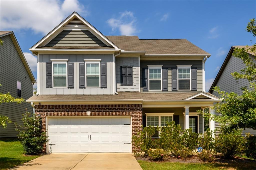
[[222, 153], [225, 158], [241, 155], [243, 151], [244, 138], [241, 130], [232, 130], [229, 133], [220, 133], [215, 140], [215, 150]]

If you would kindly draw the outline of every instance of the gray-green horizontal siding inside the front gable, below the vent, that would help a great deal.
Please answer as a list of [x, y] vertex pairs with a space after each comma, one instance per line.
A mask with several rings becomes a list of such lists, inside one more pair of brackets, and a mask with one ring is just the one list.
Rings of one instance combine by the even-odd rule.
[[88, 30], [63, 30], [45, 47], [58, 46], [102, 46], [106, 47], [95, 35]]

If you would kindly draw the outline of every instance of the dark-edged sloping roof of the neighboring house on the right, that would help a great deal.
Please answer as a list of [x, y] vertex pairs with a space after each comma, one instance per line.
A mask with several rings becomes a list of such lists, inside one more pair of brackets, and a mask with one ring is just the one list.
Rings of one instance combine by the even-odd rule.
[[[210, 87], [210, 89], [209, 89], [209, 93], [212, 93], [213, 87], [215, 87], [216, 84], [218, 83], [222, 72], [224, 71], [225, 67], [227, 66], [227, 64], [228, 64], [228, 62], [229, 62], [229, 59], [231, 58], [231, 56], [232, 56], [232, 54], [233, 54], [234, 49], [237, 48], [237, 47], [238, 47], [238, 48], [245, 48], [246, 50], [248, 50], [248, 49], [249, 49], [250, 47], [252, 47], [252, 46], [248, 46], [248, 47], [247, 47], [247, 46], [244, 46], [244, 45], [231, 46], [231, 48], [230, 48], [230, 50], [229, 50], [229, 52], [228, 52], [227, 57], [225, 58], [225, 60], [224, 60], [224, 62], [223, 62], [223, 64], [222, 64], [222, 66], [220, 67], [220, 70], [219, 70], [217, 76], [215, 77], [215, 79], [214, 79], [214, 81], [213, 81], [213, 83], [212, 83], [212, 85], [211, 85], [211, 87]], [[248, 50], [247, 53], [248, 53], [248, 54], [251, 54], [251, 55], [253, 55], [253, 56], [256, 56], [256, 54], [255, 54], [255, 53], [252, 53], [250, 50]]]

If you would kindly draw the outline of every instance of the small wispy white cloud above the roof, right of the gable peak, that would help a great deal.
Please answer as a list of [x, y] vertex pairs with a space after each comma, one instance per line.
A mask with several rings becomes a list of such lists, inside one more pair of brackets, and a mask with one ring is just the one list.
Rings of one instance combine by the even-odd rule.
[[121, 35], [133, 35], [138, 32], [136, 29], [136, 17], [133, 16], [133, 12], [124, 11], [120, 13], [118, 18], [110, 18], [107, 23], [112, 28], [112, 31], [118, 29]]

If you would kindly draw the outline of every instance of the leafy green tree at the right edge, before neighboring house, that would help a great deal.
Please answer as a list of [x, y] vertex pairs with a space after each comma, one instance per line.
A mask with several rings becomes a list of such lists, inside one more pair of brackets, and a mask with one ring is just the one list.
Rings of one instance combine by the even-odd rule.
[[[251, 19], [247, 25], [248, 32], [256, 36], [255, 19]], [[222, 103], [215, 104], [215, 109], [220, 116], [215, 116], [215, 121], [219, 122], [222, 132], [229, 132], [232, 129], [252, 128], [256, 130], [256, 64], [248, 55], [248, 52], [256, 54], [256, 44], [246, 48], [235, 48], [233, 55], [240, 58], [246, 65], [240, 72], [233, 72], [231, 75], [235, 79], [247, 79], [249, 87], [242, 87], [242, 95], [234, 92], [226, 93], [219, 87], [214, 90], [220, 94]]]

